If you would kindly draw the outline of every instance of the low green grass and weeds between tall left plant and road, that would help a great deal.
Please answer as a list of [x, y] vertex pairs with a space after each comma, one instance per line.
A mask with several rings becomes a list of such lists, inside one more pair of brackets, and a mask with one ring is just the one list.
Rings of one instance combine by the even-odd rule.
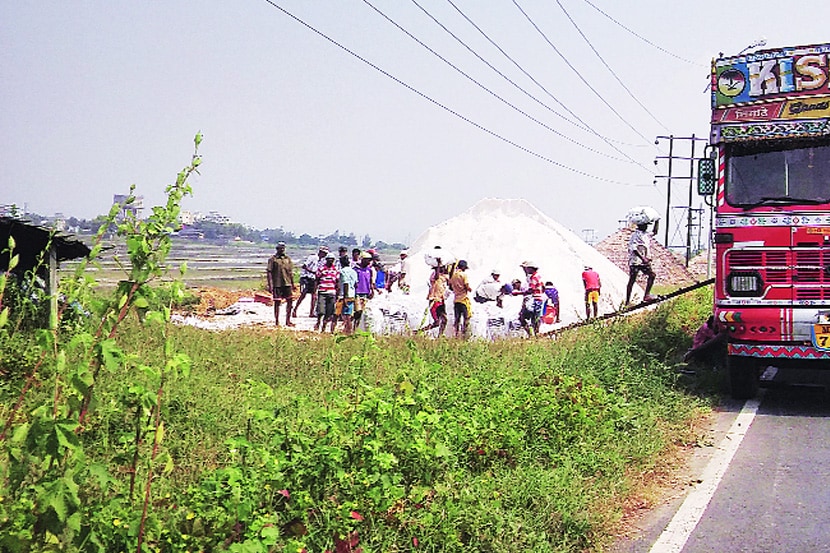
[[[496, 343], [171, 327], [191, 372], [163, 389], [172, 464], [153, 483], [149, 550], [601, 550], [639, 475], [695, 438], [709, 399], [675, 366], [710, 306], [701, 291]], [[135, 320], [118, 342], [134, 360], [170, 353]], [[85, 507], [111, 550], [135, 549], [123, 481], [131, 390], [149, 387], [136, 367], [101, 374], [81, 434], [122, 481], [90, 487]], [[15, 384], [0, 388], [3, 413]], [[29, 407], [53, 393], [37, 388]]]

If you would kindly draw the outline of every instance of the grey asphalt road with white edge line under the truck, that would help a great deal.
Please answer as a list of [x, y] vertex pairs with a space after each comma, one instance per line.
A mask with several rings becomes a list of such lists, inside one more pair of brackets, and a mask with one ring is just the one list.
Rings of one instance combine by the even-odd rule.
[[[802, 383], [809, 379], [786, 376]], [[813, 384], [830, 384], [809, 377]], [[685, 489], [638, 521], [614, 552], [830, 551], [830, 388], [785, 385], [779, 379], [762, 390], [758, 403], [734, 402], [717, 413], [709, 437], [713, 446], [692, 459]], [[741, 428], [739, 414], [751, 421], [748, 429]], [[740, 445], [718, 480], [712, 465], [735, 440]], [[678, 524], [707, 485], [714, 493], [701, 503], [702, 516]], [[684, 524], [689, 532], [672, 533]]]

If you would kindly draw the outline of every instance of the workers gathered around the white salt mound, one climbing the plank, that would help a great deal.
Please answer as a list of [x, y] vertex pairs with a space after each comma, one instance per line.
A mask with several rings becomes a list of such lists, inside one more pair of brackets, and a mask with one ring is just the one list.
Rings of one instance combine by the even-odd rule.
[[[629, 281], [626, 304], [631, 300], [639, 273], [647, 277], [643, 299], [652, 299], [650, 291], [655, 274], [651, 267], [647, 227], [647, 223], [638, 224], [628, 243]], [[471, 294], [477, 303], [493, 301], [498, 307], [502, 307], [502, 299], [506, 295], [523, 296], [518, 320], [528, 336], [538, 334], [542, 321], [555, 324], [561, 320], [559, 292], [552, 282], [542, 280], [539, 265], [533, 261], [528, 260], [520, 265], [527, 278], [526, 284], [519, 279], [502, 283], [499, 280], [500, 272], [493, 269], [474, 293], [466, 274], [469, 267], [467, 261], [462, 259], [447, 263], [440, 257], [427, 256], [427, 262], [433, 266], [426, 298], [432, 321], [418, 329], [418, 332], [437, 328], [438, 335], [444, 334], [448, 322], [446, 300], [450, 293], [453, 295], [453, 332], [458, 337], [467, 335], [472, 314]], [[378, 291], [389, 291], [397, 286], [404, 293], [409, 293], [409, 263], [407, 250], [400, 252], [399, 262], [385, 267], [380, 262], [378, 253], [371, 249], [362, 251], [354, 248], [350, 253], [348, 248], [341, 246], [335, 254], [328, 247], [320, 246], [317, 253], [310, 254], [300, 267], [300, 295], [295, 304], [294, 264], [285, 253], [285, 243], [279, 242], [276, 253], [268, 260], [267, 270], [268, 290], [274, 300], [274, 321], [279, 326], [280, 306], [285, 302], [285, 325], [294, 326], [292, 317], [297, 317], [300, 304], [306, 296], [310, 296], [309, 316], [317, 319], [315, 330], [323, 331], [328, 325], [330, 331], [334, 332], [337, 323], [342, 322], [343, 331], [350, 334], [360, 322], [366, 301]], [[585, 265], [582, 282], [585, 290], [585, 318], [596, 318], [602, 288], [600, 276], [591, 266]]]

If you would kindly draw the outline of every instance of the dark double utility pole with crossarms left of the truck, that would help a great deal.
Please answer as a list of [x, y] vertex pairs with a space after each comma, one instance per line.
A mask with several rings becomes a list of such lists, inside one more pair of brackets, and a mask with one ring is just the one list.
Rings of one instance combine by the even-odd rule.
[[[663, 175], [657, 175], [654, 178], [654, 184], [657, 184], [658, 179], [665, 179], [666, 180], [666, 221], [665, 221], [665, 228], [666, 228], [666, 235], [665, 235], [665, 242], [664, 245], [667, 249], [671, 249], [672, 247], [679, 248], [683, 247], [686, 251], [686, 266], [689, 265], [689, 261], [692, 256], [692, 228], [694, 226], [694, 215], [692, 210], [692, 202], [694, 201], [694, 187], [695, 187], [695, 167], [697, 165], [697, 158], [695, 157], [695, 150], [696, 145], [700, 142], [708, 142], [705, 138], [698, 138], [694, 134], [692, 136], [658, 136], [657, 139], [654, 141], [655, 144], [658, 146], [660, 145], [661, 141], [668, 141], [669, 143], [669, 153], [666, 156], [657, 156], [654, 160], [654, 164], [658, 165], [661, 160], [666, 161], [666, 173]], [[682, 150], [688, 152], [687, 154], [677, 154], [676, 150]], [[684, 168], [685, 164], [675, 164], [674, 162], [678, 161], [688, 161], [688, 170]], [[669, 237], [669, 227], [671, 227], [671, 190], [673, 181], [687, 181], [689, 186], [689, 203], [685, 206], [677, 206], [682, 207], [687, 210], [686, 213], [686, 240], [685, 244], [673, 244], [673, 237]], [[678, 224], [678, 227], [680, 225]]]

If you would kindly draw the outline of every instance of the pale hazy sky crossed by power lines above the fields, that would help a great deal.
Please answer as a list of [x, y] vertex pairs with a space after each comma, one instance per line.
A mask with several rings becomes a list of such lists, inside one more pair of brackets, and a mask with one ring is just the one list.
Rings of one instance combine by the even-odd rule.
[[654, 139], [707, 137], [713, 56], [828, 22], [827, 0], [0, 0], [0, 203], [93, 217], [134, 183], [158, 204], [201, 130], [185, 209], [408, 242], [524, 198], [602, 238], [665, 212]]

